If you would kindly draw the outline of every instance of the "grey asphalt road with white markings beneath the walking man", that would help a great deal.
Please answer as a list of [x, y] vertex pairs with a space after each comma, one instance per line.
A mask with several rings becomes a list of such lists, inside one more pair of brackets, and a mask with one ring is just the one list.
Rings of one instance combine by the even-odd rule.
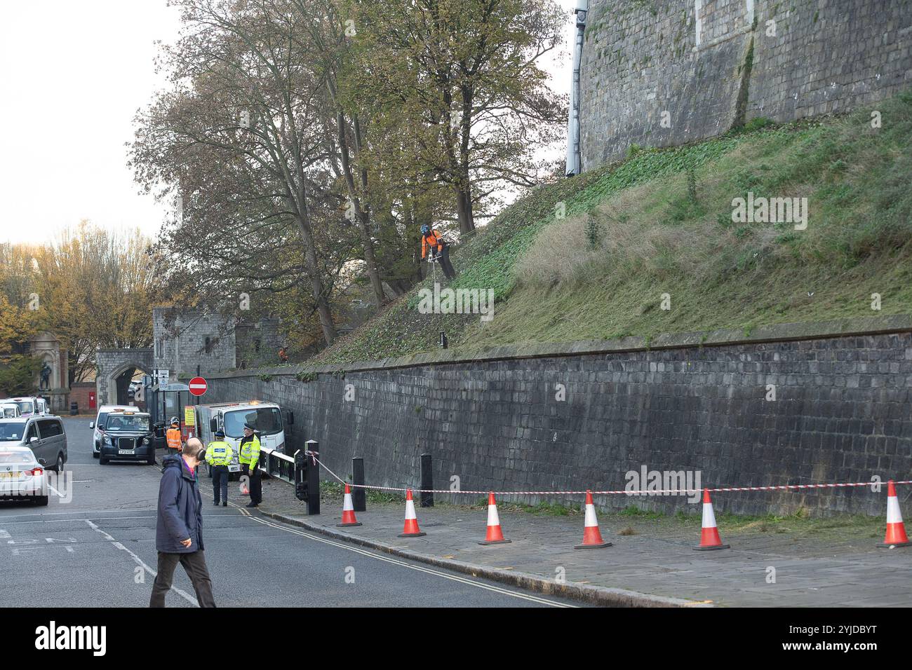
[[[146, 606], [156, 569], [161, 472], [101, 466], [91, 456], [88, 418], [67, 417], [71, 479], [45, 508], [0, 502], [0, 606]], [[283, 486], [287, 486], [283, 484]], [[206, 562], [220, 606], [526, 607], [577, 603], [431, 568], [302, 531], [231, 506], [212, 506], [202, 479]], [[67, 500], [68, 492], [72, 498]], [[36, 584], [42, 584], [36, 587]], [[169, 606], [193, 606], [178, 568]]]

